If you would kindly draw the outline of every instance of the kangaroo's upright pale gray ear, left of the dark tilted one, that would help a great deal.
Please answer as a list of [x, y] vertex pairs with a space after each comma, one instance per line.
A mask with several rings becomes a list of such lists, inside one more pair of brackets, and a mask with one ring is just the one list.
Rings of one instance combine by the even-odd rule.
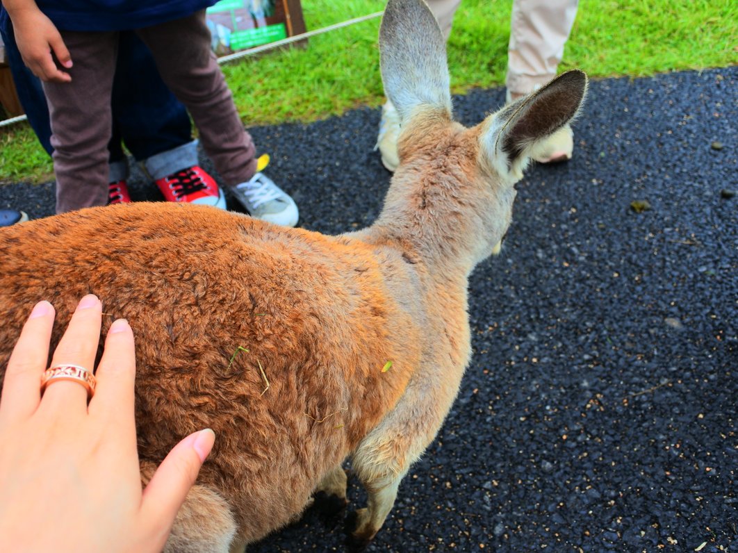
[[384, 93], [400, 114], [432, 108], [451, 117], [446, 43], [423, 0], [389, 0], [379, 27]]

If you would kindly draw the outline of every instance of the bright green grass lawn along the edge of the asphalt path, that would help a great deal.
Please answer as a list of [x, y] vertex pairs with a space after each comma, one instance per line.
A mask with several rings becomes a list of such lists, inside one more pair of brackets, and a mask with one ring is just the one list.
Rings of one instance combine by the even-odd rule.
[[[449, 40], [452, 89], [503, 86], [511, 0], [463, 0]], [[384, 0], [303, 0], [308, 29], [382, 10]], [[306, 49], [223, 67], [246, 125], [309, 122], [382, 103], [379, 19], [311, 38]], [[734, 0], [582, 0], [560, 70], [647, 76], [738, 63]], [[493, 108], [494, 106], [490, 106]], [[373, 130], [368, 130], [373, 132]], [[27, 125], [0, 129], [0, 181], [52, 173]]]

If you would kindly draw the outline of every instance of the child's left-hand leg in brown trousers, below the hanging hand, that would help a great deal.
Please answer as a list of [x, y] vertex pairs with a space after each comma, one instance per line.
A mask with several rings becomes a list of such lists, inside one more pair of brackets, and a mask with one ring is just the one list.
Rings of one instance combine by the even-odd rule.
[[71, 83], [44, 83], [54, 147], [56, 212], [108, 201], [110, 94], [117, 32], [61, 32], [72, 55]]

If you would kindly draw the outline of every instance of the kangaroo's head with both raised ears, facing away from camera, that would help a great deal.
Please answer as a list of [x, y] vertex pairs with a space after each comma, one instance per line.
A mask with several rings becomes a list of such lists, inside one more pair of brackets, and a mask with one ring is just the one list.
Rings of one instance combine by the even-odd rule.
[[499, 246], [514, 184], [542, 142], [576, 116], [587, 77], [566, 72], [465, 128], [452, 117], [446, 47], [423, 0], [389, 0], [379, 49], [401, 133], [400, 166], [377, 224], [429, 260], [471, 270]]

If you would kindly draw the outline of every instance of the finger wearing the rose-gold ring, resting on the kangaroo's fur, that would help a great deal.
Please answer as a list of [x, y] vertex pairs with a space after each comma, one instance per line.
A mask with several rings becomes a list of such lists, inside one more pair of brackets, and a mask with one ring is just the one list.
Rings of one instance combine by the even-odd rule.
[[[76, 365], [94, 370], [94, 358], [100, 342], [103, 306], [97, 296], [84, 296], [66, 327], [54, 352], [51, 366]], [[41, 406], [49, 406], [61, 413], [87, 408], [87, 389], [73, 380], [52, 380], [46, 385]]]

